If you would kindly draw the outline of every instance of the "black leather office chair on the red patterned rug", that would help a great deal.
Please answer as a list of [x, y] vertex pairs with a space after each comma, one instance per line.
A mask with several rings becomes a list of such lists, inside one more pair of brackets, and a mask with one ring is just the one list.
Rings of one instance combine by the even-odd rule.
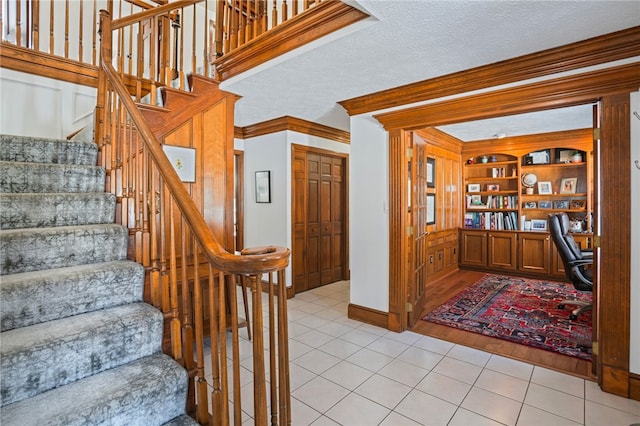
[[[575, 240], [568, 232], [563, 232], [569, 228], [569, 217], [566, 213], [552, 213], [549, 215], [549, 232], [553, 239], [558, 254], [564, 264], [567, 278], [579, 291], [593, 291], [593, 269], [588, 266], [593, 264], [593, 253], [580, 250]], [[590, 311], [591, 303], [578, 300], [563, 300], [558, 304], [558, 308], [564, 309], [565, 305], [575, 305], [569, 315], [569, 319], [575, 320], [582, 312]]]

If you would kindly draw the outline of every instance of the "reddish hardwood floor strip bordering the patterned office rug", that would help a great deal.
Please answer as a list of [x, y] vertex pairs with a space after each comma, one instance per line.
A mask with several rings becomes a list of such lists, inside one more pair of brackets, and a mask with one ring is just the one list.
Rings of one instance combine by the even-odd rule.
[[[464, 288], [478, 281], [484, 274], [485, 272], [460, 270], [434, 283], [428, 284], [426, 289], [427, 301], [422, 309], [421, 317], [442, 305]], [[460, 343], [507, 358], [526, 361], [541, 367], [562, 371], [584, 379], [596, 380], [591, 372], [590, 361], [556, 354], [543, 349], [530, 348], [495, 337], [470, 333], [427, 321], [417, 321], [411, 330], [416, 333], [437, 337], [452, 343]]]

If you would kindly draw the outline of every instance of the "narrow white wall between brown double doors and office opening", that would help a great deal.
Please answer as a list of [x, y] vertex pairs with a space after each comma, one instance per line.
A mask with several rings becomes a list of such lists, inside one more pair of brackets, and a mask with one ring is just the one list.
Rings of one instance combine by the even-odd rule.
[[351, 117], [349, 166], [351, 303], [389, 312], [389, 150], [375, 119]]

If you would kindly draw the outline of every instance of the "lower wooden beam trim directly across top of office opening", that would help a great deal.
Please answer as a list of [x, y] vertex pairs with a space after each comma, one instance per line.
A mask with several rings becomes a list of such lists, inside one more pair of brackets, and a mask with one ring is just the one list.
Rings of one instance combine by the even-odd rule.
[[389, 129], [418, 129], [595, 102], [640, 86], [640, 62], [374, 115]]

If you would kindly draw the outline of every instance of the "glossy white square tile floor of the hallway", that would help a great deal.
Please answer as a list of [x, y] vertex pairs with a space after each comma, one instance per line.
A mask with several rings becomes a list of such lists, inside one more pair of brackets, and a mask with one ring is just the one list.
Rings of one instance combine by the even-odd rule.
[[[591, 381], [350, 320], [348, 303], [348, 281], [288, 301], [292, 425], [640, 423], [640, 402], [604, 393]], [[242, 343], [243, 424], [249, 425], [251, 347]]]

